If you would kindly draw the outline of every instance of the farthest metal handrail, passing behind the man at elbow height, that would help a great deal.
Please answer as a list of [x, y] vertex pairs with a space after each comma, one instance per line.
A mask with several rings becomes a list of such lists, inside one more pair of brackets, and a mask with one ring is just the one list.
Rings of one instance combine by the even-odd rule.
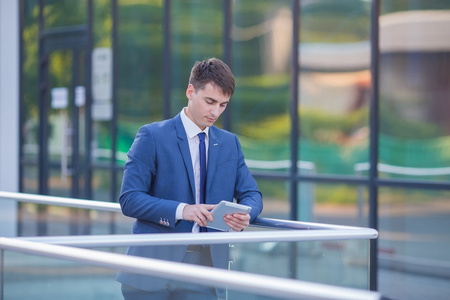
[[[65, 197], [55, 197], [55, 196], [45, 196], [36, 194], [26, 194], [26, 193], [14, 193], [14, 192], [4, 192], [0, 191], [0, 199], [15, 200], [19, 202], [28, 203], [38, 203], [65, 207], [75, 207], [93, 210], [103, 210], [121, 213], [121, 208], [119, 203], [113, 202], [103, 202], [95, 200], [84, 200], [76, 198], [65, 198]], [[374, 229], [353, 227], [353, 226], [341, 226], [332, 224], [321, 224], [321, 223], [311, 223], [311, 222], [300, 222], [300, 221], [288, 221], [280, 219], [270, 219], [270, 218], [257, 218], [251, 226], [256, 227], [267, 227], [276, 229], [291, 229], [291, 230], [328, 230], [328, 229], [338, 229], [338, 230], [368, 230], [369, 236], [364, 238], [374, 239], [378, 237], [378, 232]]]

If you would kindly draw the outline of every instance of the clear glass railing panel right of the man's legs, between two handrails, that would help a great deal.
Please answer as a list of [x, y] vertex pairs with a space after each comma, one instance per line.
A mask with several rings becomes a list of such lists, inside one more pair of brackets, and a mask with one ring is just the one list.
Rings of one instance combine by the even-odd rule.
[[369, 289], [368, 240], [233, 244], [232, 270]]

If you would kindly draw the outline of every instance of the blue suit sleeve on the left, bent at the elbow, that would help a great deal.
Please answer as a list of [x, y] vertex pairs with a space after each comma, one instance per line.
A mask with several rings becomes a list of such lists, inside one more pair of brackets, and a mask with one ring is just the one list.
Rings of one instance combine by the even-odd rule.
[[126, 216], [173, 228], [180, 202], [150, 195], [156, 172], [155, 140], [149, 128], [143, 126], [128, 151], [119, 198], [120, 206]]

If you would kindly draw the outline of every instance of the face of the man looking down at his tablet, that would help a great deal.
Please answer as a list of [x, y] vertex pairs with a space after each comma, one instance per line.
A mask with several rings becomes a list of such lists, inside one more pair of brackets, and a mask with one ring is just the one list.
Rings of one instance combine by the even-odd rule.
[[189, 99], [186, 115], [201, 130], [211, 127], [230, 101], [229, 96], [224, 95], [220, 88], [211, 83], [198, 90], [189, 84], [186, 96]]

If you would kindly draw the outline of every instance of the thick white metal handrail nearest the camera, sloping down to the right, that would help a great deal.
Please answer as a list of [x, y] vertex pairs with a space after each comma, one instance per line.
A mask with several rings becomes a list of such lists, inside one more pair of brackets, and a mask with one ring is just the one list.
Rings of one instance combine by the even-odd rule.
[[377, 292], [0, 237], [0, 249], [282, 299], [381, 299]]

